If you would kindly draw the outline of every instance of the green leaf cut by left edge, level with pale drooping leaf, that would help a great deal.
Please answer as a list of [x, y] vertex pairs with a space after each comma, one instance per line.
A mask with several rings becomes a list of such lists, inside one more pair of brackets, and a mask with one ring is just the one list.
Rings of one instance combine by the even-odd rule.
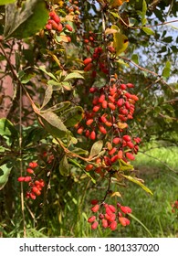
[[15, 126], [6, 118], [0, 119], [0, 135], [13, 136], [13, 137], [16, 137], [17, 135]]

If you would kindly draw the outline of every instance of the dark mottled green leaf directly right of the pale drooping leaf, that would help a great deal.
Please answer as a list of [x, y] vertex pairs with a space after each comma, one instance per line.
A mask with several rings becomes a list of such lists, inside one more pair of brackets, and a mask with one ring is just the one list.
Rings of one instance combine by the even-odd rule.
[[61, 119], [66, 127], [72, 127], [79, 123], [83, 117], [83, 109], [80, 106], [72, 107], [61, 114]]

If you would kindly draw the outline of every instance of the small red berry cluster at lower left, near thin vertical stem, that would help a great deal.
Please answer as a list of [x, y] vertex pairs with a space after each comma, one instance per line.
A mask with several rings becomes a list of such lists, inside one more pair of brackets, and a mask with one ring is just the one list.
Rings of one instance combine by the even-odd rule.
[[35, 168], [37, 167], [37, 162], [30, 162], [26, 168], [26, 172], [32, 176], [19, 176], [17, 180], [19, 182], [28, 183], [28, 191], [26, 192], [26, 198], [36, 199], [37, 196], [41, 195], [41, 190], [45, 187], [45, 182], [43, 179], [37, 180], [35, 174]]

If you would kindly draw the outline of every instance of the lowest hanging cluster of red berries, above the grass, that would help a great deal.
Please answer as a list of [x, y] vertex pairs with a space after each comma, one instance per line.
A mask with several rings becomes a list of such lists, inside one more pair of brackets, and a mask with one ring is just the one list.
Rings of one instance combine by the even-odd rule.
[[131, 213], [131, 208], [121, 206], [120, 203], [117, 204], [117, 208], [106, 203], [99, 205], [97, 199], [91, 200], [91, 204], [93, 205], [91, 211], [97, 213], [97, 215], [92, 215], [88, 219], [88, 222], [91, 224], [91, 229], [97, 229], [99, 224], [104, 229], [109, 228], [111, 230], [117, 229], [118, 224], [122, 226], [130, 225], [130, 219], [126, 216]]

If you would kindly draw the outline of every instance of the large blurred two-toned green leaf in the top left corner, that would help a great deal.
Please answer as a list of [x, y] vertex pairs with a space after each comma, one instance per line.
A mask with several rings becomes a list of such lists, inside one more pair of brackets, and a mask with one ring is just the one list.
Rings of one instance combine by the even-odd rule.
[[5, 39], [26, 38], [47, 24], [48, 10], [44, 0], [26, 0], [22, 6], [5, 5]]

